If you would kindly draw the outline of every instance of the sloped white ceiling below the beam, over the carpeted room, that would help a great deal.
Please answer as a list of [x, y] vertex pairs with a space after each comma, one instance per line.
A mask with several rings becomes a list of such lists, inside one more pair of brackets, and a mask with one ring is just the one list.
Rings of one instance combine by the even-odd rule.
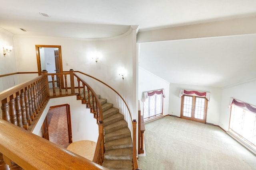
[[226, 87], [256, 80], [256, 34], [142, 43], [139, 65], [178, 84]]

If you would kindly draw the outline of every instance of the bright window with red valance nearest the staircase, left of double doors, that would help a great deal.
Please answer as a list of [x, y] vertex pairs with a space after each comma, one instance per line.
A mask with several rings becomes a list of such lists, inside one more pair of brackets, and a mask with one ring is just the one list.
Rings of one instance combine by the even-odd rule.
[[163, 90], [144, 92], [143, 118], [145, 121], [163, 114], [163, 97]]

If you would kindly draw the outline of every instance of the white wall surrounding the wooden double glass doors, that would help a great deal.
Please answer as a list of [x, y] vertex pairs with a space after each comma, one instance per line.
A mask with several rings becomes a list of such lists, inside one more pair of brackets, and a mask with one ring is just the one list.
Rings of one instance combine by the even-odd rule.
[[207, 86], [194, 86], [186, 84], [170, 84], [170, 100], [169, 100], [169, 113], [180, 117], [181, 98], [180, 90], [195, 90], [200, 92], [210, 92], [210, 101], [208, 102], [206, 122], [219, 125], [220, 119], [220, 100], [221, 88], [207, 87]]

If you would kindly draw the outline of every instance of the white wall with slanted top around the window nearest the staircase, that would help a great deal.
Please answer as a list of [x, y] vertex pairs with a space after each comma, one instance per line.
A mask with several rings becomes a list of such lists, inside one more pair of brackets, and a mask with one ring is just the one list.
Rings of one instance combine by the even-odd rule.
[[163, 102], [163, 115], [168, 115], [170, 83], [139, 66], [138, 99], [140, 100], [141, 113], [143, 111], [143, 102], [142, 102], [143, 92], [159, 90], [162, 88], [164, 89], [165, 96], [166, 96]]

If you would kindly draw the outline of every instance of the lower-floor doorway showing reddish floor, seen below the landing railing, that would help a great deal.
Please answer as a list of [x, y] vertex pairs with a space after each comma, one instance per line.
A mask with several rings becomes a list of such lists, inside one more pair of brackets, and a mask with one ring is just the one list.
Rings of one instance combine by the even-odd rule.
[[72, 143], [70, 106], [51, 106], [47, 113], [49, 141], [67, 148]]

